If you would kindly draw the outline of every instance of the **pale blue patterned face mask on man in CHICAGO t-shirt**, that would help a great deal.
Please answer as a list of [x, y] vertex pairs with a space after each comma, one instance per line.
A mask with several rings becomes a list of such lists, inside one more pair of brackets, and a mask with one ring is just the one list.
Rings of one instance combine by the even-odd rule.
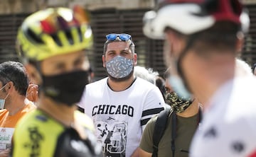
[[117, 56], [106, 62], [107, 73], [116, 79], [122, 79], [131, 74], [133, 69], [132, 59]]

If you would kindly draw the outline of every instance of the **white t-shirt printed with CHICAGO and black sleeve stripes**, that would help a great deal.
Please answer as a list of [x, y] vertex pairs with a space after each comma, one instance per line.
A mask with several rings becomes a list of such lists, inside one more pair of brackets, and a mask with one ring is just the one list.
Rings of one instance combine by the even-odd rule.
[[159, 88], [143, 79], [115, 92], [105, 78], [85, 87], [79, 106], [95, 122], [105, 156], [131, 156], [139, 147], [146, 122], [164, 110], [164, 98]]

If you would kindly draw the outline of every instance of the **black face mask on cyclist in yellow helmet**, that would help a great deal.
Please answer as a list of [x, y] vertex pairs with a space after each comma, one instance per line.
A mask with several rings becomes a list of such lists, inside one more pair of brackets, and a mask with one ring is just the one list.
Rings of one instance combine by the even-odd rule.
[[54, 76], [42, 75], [42, 91], [56, 102], [72, 106], [80, 101], [85, 85], [89, 83], [87, 71], [73, 71]]

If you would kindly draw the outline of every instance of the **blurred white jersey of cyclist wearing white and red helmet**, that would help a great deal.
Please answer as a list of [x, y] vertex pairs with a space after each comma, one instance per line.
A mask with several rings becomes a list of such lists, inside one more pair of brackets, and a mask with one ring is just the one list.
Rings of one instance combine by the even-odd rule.
[[190, 156], [256, 156], [254, 76], [228, 81], [215, 93], [192, 141]]

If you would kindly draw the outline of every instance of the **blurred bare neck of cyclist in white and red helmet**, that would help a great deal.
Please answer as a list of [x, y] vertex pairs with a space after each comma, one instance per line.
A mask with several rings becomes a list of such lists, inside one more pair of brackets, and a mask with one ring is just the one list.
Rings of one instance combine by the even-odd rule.
[[197, 59], [196, 68], [191, 67], [190, 78], [193, 94], [207, 108], [209, 100], [216, 91], [235, 76], [235, 58], [233, 54], [215, 54], [212, 59]]

